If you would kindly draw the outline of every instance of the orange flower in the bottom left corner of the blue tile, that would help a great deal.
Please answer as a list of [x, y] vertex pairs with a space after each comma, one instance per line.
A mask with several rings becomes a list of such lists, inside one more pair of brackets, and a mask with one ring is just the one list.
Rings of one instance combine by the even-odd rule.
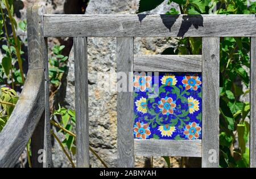
[[146, 139], [151, 134], [150, 127], [148, 127], [147, 123], [137, 122], [136, 125], [134, 125], [134, 134], [136, 138]]

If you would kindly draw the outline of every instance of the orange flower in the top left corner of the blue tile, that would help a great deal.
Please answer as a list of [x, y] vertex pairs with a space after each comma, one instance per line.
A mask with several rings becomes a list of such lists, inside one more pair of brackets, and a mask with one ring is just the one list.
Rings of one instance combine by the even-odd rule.
[[134, 76], [134, 82], [133, 86], [136, 89], [143, 91], [146, 91], [151, 86], [151, 76], [146, 76], [146, 73], [142, 73], [141, 75], [135, 75]]

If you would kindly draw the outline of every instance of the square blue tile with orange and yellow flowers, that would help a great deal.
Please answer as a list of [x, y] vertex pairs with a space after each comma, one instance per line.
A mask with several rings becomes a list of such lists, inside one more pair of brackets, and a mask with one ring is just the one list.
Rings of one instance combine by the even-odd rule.
[[201, 73], [134, 75], [134, 138], [201, 139]]

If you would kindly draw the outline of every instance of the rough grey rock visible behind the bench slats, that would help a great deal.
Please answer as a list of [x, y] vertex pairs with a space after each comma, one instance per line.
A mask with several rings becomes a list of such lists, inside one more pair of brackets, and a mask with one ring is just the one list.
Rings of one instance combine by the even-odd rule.
[[[103, 0], [100, 3], [91, 0], [86, 8], [86, 14], [135, 14], [139, 1]], [[164, 14], [172, 5], [167, 0], [151, 14]], [[150, 12], [147, 12], [149, 14]], [[134, 40], [135, 54], [159, 54], [170, 46], [175, 46], [175, 40], [167, 38], [136, 38]], [[90, 145], [98, 152], [109, 167], [117, 166], [117, 112], [115, 75], [115, 38], [88, 38], [88, 78], [89, 78], [89, 137]], [[69, 55], [69, 72], [67, 76], [66, 107], [75, 109], [75, 71], [73, 49]], [[101, 74], [104, 74], [102, 78]], [[100, 76], [100, 77], [99, 77]], [[97, 84], [108, 81], [109, 91], [98, 88]], [[154, 166], [164, 167], [165, 162], [155, 157]], [[150, 167], [150, 158], [136, 157], [136, 167]], [[148, 162], [149, 161], [149, 162]], [[102, 167], [100, 161], [90, 154], [92, 167]]]

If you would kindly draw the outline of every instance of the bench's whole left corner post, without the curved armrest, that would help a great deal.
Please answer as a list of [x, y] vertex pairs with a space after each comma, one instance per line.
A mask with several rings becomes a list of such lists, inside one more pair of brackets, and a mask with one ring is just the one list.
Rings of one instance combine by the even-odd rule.
[[[32, 162], [34, 167], [51, 167], [51, 134], [49, 121], [48, 102], [48, 52], [47, 39], [43, 36], [43, 15], [46, 14], [46, 7], [33, 5], [27, 8], [27, 36], [28, 36], [28, 68], [45, 70], [45, 101], [46, 113], [39, 121], [38, 127], [32, 135]], [[39, 127], [43, 129], [39, 129]], [[43, 142], [42, 142], [43, 140]], [[39, 150], [43, 150], [43, 154]], [[44, 156], [44, 162], [38, 160], [39, 155]], [[33, 166], [32, 166], [33, 167]]]

